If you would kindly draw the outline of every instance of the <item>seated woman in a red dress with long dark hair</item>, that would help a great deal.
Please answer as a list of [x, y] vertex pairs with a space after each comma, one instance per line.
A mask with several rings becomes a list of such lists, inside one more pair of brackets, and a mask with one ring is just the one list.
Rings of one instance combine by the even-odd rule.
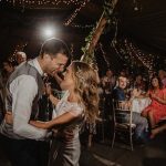
[[142, 116], [147, 117], [151, 123], [151, 127], [155, 125], [166, 116], [166, 89], [163, 87], [159, 77], [154, 76], [151, 80], [151, 87], [146, 94], [151, 97], [152, 103], [142, 112]]

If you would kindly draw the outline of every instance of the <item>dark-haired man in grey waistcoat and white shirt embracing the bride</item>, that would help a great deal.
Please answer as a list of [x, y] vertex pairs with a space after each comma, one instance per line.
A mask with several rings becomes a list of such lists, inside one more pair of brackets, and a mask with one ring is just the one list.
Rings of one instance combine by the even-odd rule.
[[42, 75], [62, 71], [69, 56], [65, 43], [53, 38], [43, 43], [37, 59], [22, 63], [10, 75], [1, 133], [12, 166], [41, 166], [38, 147], [46, 131], [31, 126], [29, 121], [38, 120], [38, 101], [44, 90]]

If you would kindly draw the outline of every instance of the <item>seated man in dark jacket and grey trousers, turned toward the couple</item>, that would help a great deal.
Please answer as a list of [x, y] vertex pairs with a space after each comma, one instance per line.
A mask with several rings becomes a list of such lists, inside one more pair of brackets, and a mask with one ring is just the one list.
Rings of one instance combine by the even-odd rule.
[[[129, 100], [126, 100], [125, 89], [127, 85], [127, 79], [125, 76], [120, 76], [117, 79], [117, 85], [113, 90], [113, 98], [116, 101], [124, 101], [125, 105], [131, 106], [132, 98], [135, 96], [135, 92], [133, 93]], [[126, 115], [126, 121], [129, 120], [129, 115]], [[133, 112], [133, 123], [136, 125], [136, 138], [146, 142], [147, 141], [147, 133], [146, 128], [148, 126], [147, 120], [142, 117], [141, 114]]]

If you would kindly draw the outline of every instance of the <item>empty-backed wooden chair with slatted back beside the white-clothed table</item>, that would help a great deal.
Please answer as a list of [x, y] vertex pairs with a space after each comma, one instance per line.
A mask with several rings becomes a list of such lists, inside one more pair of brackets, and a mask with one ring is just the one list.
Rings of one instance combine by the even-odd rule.
[[[129, 118], [125, 118], [129, 116]], [[113, 139], [112, 148], [114, 146], [115, 137], [118, 134], [123, 136], [127, 142], [129, 141], [131, 149], [133, 151], [133, 136], [136, 125], [132, 123], [132, 111], [124, 101], [113, 100]]]

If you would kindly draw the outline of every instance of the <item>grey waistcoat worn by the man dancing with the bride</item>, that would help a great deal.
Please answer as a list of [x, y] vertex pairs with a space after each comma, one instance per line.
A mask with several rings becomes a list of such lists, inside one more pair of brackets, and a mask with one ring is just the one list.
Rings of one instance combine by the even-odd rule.
[[[38, 84], [38, 94], [35, 95], [32, 104], [32, 111], [31, 111], [31, 120], [37, 120], [38, 118], [38, 113], [39, 113], [39, 106], [38, 106], [38, 101], [40, 96], [42, 95], [43, 91], [43, 81], [38, 72], [38, 70], [29, 64], [29, 62], [24, 62], [21, 65], [19, 65], [14, 72], [10, 75], [8, 82], [7, 82], [7, 98], [6, 98], [6, 110], [8, 112], [12, 112], [12, 94], [9, 91], [9, 86], [12, 83], [13, 80], [15, 80], [20, 75], [31, 75], [35, 79], [37, 84]], [[21, 136], [17, 135], [13, 133], [13, 126], [11, 124], [7, 124], [6, 121], [2, 122], [0, 132], [4, 134], [8, 137], [11, 138], [22, 138]]]

